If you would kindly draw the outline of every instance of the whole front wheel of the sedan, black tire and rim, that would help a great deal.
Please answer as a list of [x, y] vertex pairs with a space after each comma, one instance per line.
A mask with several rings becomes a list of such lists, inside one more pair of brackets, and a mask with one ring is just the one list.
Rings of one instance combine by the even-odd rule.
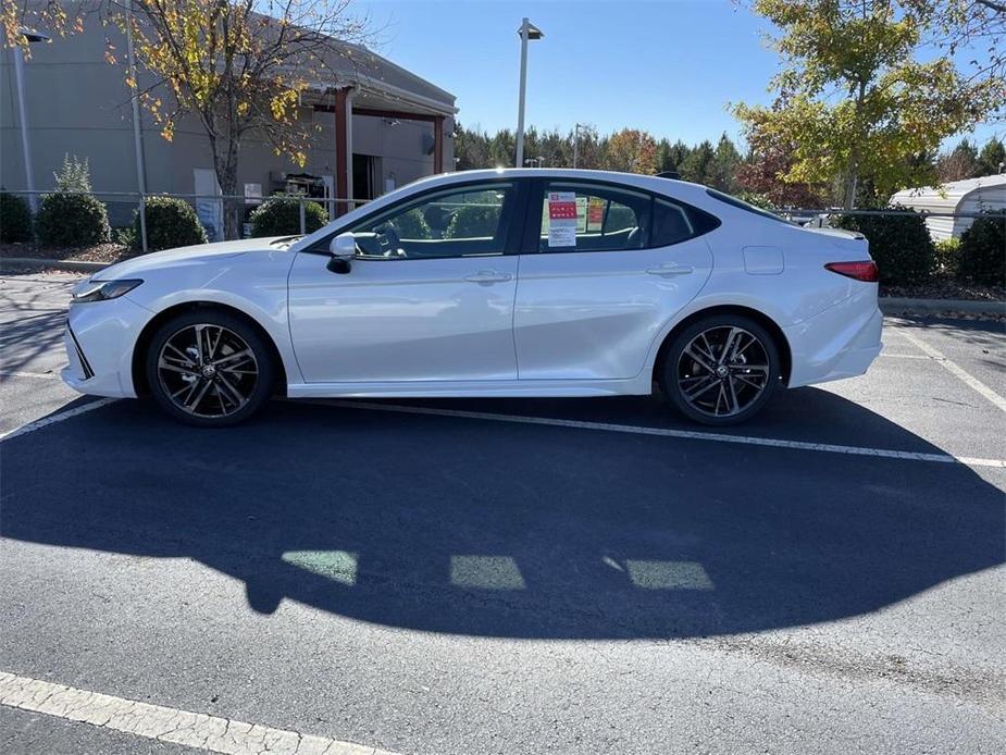
[[147, 350], [146, 371], [158, 406], [197, 428], [244, 422], [262, 408], [276, 380], [272, 351], [258, 330], [210, 308], [161, 325]]

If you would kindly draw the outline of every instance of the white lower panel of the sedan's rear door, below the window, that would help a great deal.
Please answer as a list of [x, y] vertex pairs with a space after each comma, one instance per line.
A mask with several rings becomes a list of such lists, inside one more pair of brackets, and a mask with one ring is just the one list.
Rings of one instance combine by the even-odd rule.
[[705, 285], [701, 237], [658, 249], [521, 258], [514, 343], [521, 380], [624, 380]]

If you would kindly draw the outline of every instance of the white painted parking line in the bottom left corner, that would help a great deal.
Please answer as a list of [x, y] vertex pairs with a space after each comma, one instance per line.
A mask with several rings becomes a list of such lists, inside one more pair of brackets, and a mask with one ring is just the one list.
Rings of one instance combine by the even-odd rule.
[[211, 753], [394, 755], [327, 737], [301, 734], [202, 713], [140, 703], [0, 671], [0, 705]]

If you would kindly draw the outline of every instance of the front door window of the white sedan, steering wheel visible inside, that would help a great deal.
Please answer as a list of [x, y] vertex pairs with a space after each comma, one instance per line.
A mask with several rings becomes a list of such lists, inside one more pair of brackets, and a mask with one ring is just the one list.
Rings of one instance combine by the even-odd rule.
[[363, 258], [494, 257], [506, 251], [513, 203], [511, 183], [445, 189], [350, 231]]

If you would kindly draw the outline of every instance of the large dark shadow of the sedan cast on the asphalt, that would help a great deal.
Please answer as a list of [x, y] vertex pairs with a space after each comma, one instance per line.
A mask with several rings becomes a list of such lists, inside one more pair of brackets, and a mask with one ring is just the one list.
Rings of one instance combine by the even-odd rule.
[[[796, 398], [840, 437], [940, 453], [834, 394]], [[631, 424], [647, 400], [592, 411]], [[961, 465], [448, 416], [275, 403], [198, 431], [119, 401], [5, 442], [2, 474], [7, 537], [197, 559], [262, 614], [456, 634], [803, 626], [1004, 560], [1003, 493]]]

